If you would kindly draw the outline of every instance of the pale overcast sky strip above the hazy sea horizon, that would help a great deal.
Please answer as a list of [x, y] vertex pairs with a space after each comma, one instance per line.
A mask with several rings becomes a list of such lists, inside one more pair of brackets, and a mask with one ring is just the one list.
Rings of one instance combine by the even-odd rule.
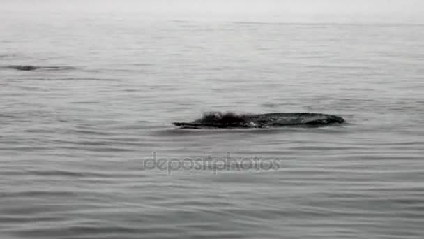
[[175, 19], [424, 23], [423, 0], [1, 0], [0, 8], [139, 12]]

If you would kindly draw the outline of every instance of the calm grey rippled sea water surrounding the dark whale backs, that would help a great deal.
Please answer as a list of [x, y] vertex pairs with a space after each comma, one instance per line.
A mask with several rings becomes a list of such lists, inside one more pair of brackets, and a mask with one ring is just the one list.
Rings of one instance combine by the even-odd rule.
[[[0, 13], [1, 238], [424, 237], [423, 25]], [[347, 124], [171, 124], [210, 110]]]

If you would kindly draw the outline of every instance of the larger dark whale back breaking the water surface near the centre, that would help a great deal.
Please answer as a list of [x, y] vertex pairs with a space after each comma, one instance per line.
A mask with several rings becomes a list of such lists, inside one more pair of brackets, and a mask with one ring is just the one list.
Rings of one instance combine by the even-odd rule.
[[181, 129], [210, 128], [272, 128], [281, 126], [324, 126], [341, 124], [345, 119], [337, 115], [320, 113], [267, 113], [267, 114], [236, 114], [210, 112], [193, 122], [174, 122]]

